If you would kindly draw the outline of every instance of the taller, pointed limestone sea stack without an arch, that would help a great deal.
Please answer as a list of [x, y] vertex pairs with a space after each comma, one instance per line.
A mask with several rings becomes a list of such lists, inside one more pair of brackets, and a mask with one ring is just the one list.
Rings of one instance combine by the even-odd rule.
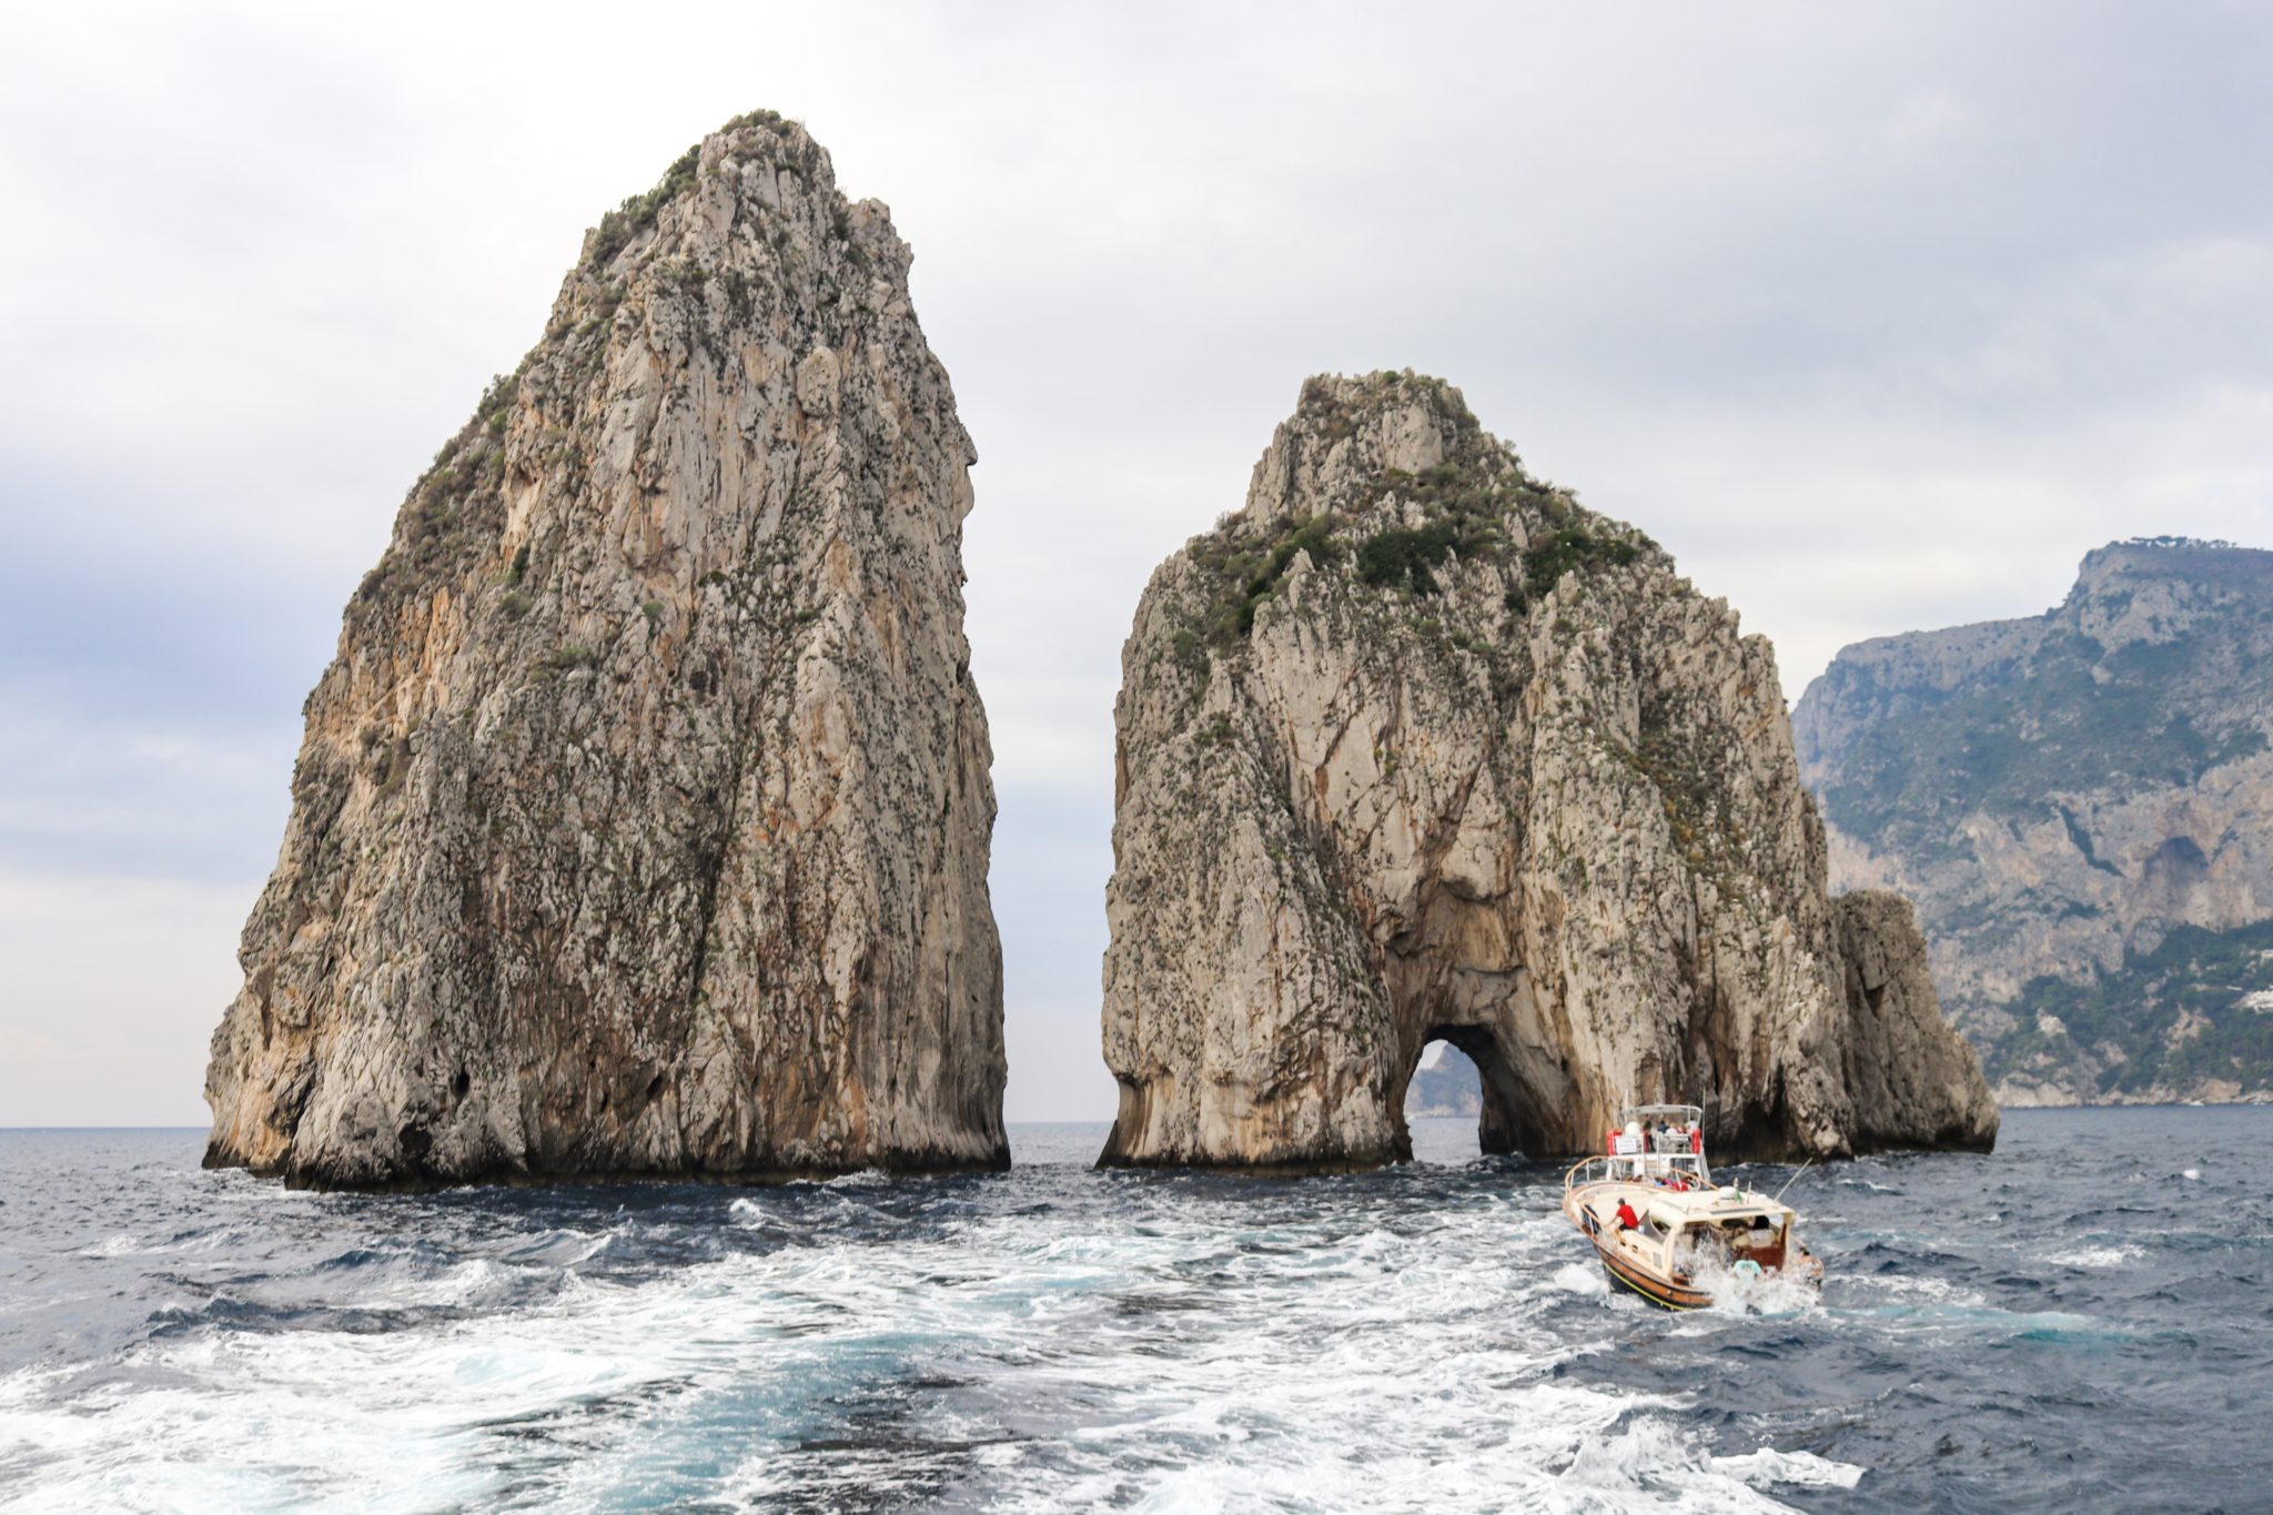
[[309, 695], [207, 1163], [1007, 1161], [973, 450], [907, 266], [771, 114], [586, 234]]

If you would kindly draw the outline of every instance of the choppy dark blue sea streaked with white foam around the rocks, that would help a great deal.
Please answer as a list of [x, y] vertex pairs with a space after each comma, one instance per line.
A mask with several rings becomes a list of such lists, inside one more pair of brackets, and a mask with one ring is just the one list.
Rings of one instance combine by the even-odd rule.
[[[2273, 1506], [2273, 1111], [2012, 1113], [1791, 1190], [1789, 1315], [1614, 1297], [1559, 1167], [286, 1192], [0, 1131], [27, 1510]], [[1746, 1170], [1773, 1186], [1787, 1170]]]

